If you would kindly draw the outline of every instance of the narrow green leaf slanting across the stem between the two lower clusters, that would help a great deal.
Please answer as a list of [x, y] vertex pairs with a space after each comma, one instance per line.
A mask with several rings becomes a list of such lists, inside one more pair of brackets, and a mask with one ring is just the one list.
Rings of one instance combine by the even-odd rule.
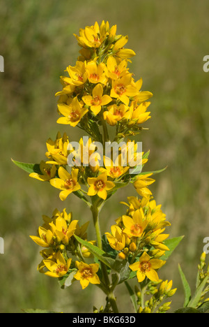
[[91, 243], [89, 243], [85, 240], [82, 240], [82, 238], [79, 238], [77, 235], [74, 235], [74, 237], [79, 243], [84, 245], [84, 247], [86, 247], [91, 252], [91, 254], [93, 254], [93, 256], [96, 256], [107, 267], [114, 270], [115, 260], [108, 256], [105, 256], [106, 253], [102, 249], [100, 249], [99, 247], [96, 247], [95, 245], [92, 245]]

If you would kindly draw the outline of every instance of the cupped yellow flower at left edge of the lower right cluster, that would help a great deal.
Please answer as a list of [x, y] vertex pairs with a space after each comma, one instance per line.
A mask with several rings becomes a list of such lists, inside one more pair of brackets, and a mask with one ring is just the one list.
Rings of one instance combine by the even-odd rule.
[[122, 232], [122, 229], [116, 225], [111, 226], [111, 234], [105, 233], [107, 236], [107, 240], [109, 241], [109, 245], [120, 251], [125, 247], [125, 235]]

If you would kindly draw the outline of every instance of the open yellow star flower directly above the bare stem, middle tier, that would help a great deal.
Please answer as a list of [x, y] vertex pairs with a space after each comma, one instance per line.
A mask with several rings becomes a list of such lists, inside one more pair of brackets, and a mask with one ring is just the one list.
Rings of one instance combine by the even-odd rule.
[[107, 191], [113, 189], [115, 184], [107, 180], [107, 173], [101, 173], [98, 177], [88, 177], [88, 196], [98, 194], [100, 198], [105, 200], [107, 198]]

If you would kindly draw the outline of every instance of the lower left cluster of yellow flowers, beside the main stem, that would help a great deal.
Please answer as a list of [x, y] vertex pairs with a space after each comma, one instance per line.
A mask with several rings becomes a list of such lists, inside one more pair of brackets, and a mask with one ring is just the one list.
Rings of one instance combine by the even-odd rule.
[[[68, 214], [54, 210], [52, 217], [42, 216], [44, 224], [38, 228], [38, 236], [32, 236], [31, 239], [44, 247], [40, 251], [42, 261], [38, 265], [40, 273], [50, 277], [63, 277], [66, 274], [73, 273], [74, 278], [80, 280], [82, 288], [88, 286], [88, 283], [99, 284], [98, 264], [83, 263], [82, 261], [72, 262], [72, 256], [81, 260], [89, 258], [91, 252], [86, 247], [81, 247], [74, 235], [82, 240], [87, 240], [86, 230], [89, 221], [79, 226], [78, 220], [72, 220], [72, 213]], [[90, 244], [95, 244], [92, 240]], [[92, 272], [92, 274], [91, 274]]]

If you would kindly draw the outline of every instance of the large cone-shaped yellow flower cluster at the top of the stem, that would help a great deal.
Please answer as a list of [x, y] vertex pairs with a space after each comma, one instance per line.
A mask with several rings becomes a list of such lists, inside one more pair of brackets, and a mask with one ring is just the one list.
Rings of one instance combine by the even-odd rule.
[[[84, 128], [89, 120], [111, 126], [118, 125], [120, 136], [127, 129], [139, 129], [139, 124], [150, 118], [147, 100], [151, 92], [141, 91], [142, 80], [134, 80], [127, 64], [134, 51], [124, 49], [127, 36], [116, 35], [116, 25], [98, 22], [92, 27], [80, 29], [76, 36], [81, 56], [75, 66], [68, 66], [68, 76], [61, 76], [63, 89], [59, 96], [58, 111], [62, 115], [57, 122]], [[88, 126], [89, 128], [89, 126]], [[91, 129], [90, 129], [91, 131]], [[93, 135], [93, 134], [92, 134]]]

